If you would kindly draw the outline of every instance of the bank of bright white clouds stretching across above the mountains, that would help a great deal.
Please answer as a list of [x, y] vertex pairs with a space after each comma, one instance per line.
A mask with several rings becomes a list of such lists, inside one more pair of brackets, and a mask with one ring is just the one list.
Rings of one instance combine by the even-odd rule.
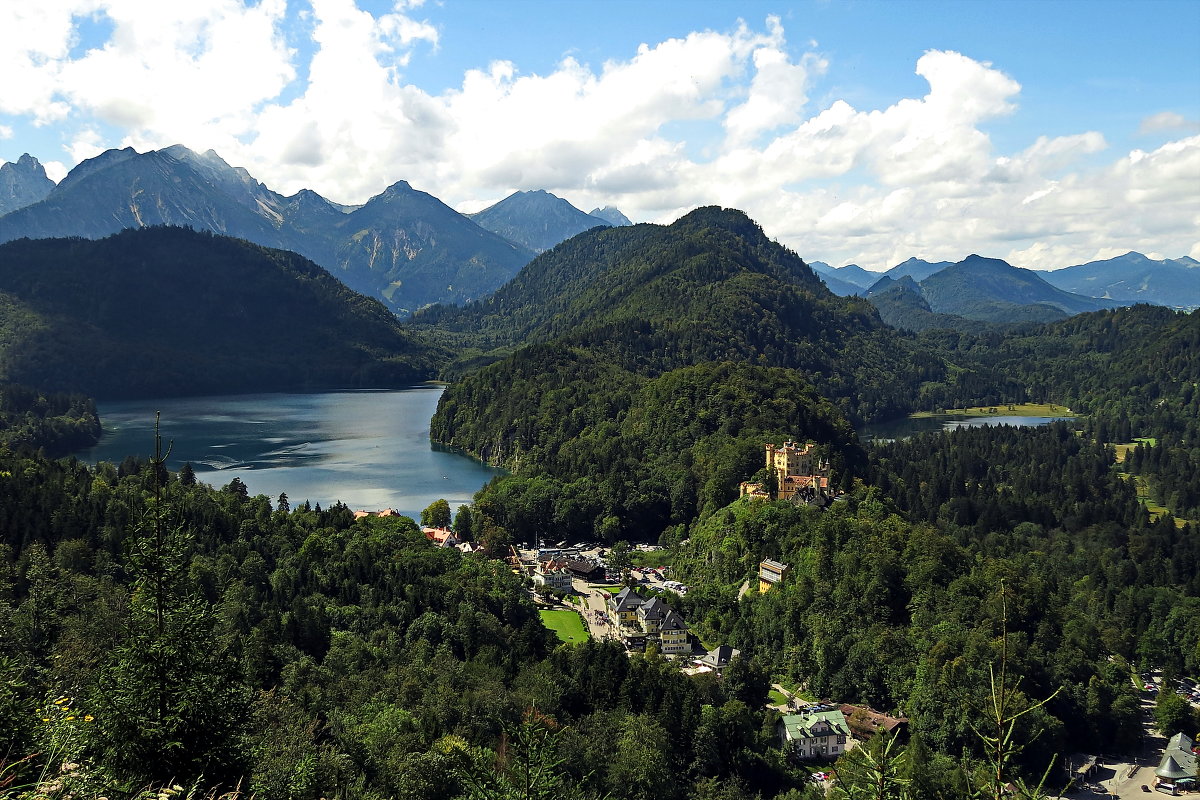
[[[997, 152], [989, 125], [1019, 112], [1021, 86], [967, 54], [914, 54], [922, 96], [810, 108], [838, 65], [802, 29], [805, 52], [790, 47], [772, 17], [595, 66], [478, 65], [434, 95], [406, 80], [444, 35], [419, 0], [379, 14], [288, 1], [6, 4], [0, 114], [70, 114], [61, 139], [76, 161], [180, 142], [277, 191], [342, 203], [403, 179], [464, 210], [530, 188], [658, 222], [742, 207], [805, 258], [872, 269], [971, 252], [1043, 267], [1108, 247], [1196, 252], [1200, 137], [1104, 155], [1105, 137], [1084, 131]], [[73, 25], [88, 14], [112, 36], [80, 54]], [[1189, 125], [1163, 112], [1141, 131]], [[113, 127], [120, 142], [101, 133]]]

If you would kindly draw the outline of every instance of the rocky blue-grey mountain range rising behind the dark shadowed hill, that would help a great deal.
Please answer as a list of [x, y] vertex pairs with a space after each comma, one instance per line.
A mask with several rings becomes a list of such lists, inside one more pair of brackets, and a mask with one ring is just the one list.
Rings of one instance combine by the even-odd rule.
[[[556, 235], [610, 224], [545, 192], [524, 194], [536, 196], [524, 203], [524, 219], [508, 215], [504, 229], [536, 249], [557, 243]], [[503, 219], [508, 205], [481, 213]], [[22, 157], [0, 168], [0, 242], [180, 225], [290, 249], [401, 315], [486, 296], [535, 254], [406, 181], [360, 206], [308, 190], [284, 197], [216, 152], [182, 145], [144, 154], [108, 150], [79, 163], [58, 186], [36, 160]]]

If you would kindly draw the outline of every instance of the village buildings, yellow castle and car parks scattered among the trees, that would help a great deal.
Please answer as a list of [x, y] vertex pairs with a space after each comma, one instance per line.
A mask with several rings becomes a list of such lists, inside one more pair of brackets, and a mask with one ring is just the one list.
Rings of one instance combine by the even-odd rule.
[[[829, 463], [814, 443], [763, 446], [766, 482], [739, 485], [739, 499], [746, 501], [782, 500], [816, 509], [838, 500], [829, 487]], [[391, 509], [359, 511], [355, 516], [398, 516]], [[426, 539], [437, 547], [452, 547], [463, 553], [476, 552], [473, 542], [461, 541], [449, 527], [424, 527]], [[683, 614], [672, 606], [672, 595], [683, 597], [689, 587], [667, 576], [662, 548], [654, 545], [605, 547], [596, 542], [545, 547], [511, 546], [505, 560], [526, 579], [527, 590], [539, 606], [544, 624], [563, 642], [586, 638], [620, 643], [626, 652], [655, 652], [678, 664], [688, 675], [709, 674], [721, 680], [740, 651], [728, 644], [708, 646], [694, 634]], [[637, 563], [641, 563], [638, 565]], [[746, 582], [742, 594], [770, 591], [787, 581], [790, 565], [774, 559], [758, 564], [757, 582]], [[1157, 792], [1169, 795], [1195, 793], [1200, 745], [1187, 733], [1170, 739], [1153, 726], [1153, 697], [1162, 688], [1150, 674], [1142, 676], [1144, 748], [1135, 759], [1076, 753], [1062, 764], [1068, 786], [1062, 799], [1106, 796], [1129, 800]], [[1136, 685], [1136, 681], [1135, 681]], [[1174, 687], [1184, 699], [1200, 706], [1200, 687], [1177, 680]], [[1170, 691], [1163, 688], [1163, 691]], [[880, 732], [904, 739], [907, 718], [870, 706], [815, 700], [804, 697], [800, 687], [773, 684], [767, 708], [779, 712], [776, 742], [790, 758], [812, 764], [812, 780], [827, 783], [832, 774], [823, 770], [857, 745]], [[1057, 796], [1057, 795], [1052, 795]]]

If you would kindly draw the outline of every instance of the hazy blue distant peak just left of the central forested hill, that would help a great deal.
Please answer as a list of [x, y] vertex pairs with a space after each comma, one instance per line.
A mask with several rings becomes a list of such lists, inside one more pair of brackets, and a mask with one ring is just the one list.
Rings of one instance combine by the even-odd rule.
[[[620, 215], [619, 211], [616, 213]], [[467, 216], [487, 230], [535, 253], [542, 253], [584, 230], [613, 224], [606, 218], [584, 213], [544, 190], [514, 192], [499, 203]]]

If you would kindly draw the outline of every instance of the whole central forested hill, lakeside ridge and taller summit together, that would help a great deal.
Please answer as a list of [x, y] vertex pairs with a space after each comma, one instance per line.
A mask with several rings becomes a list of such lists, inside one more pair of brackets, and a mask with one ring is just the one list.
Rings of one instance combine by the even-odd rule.
[[528, 344], [443, 395], [434, 440], [518, 473], [479, 501], [498, 535], [656, 536], [728, 503], [762, 443], [806, 438], [848, 483], [851, 422], [912, 408], [943, 365], [836, 297], [732, 210], [589, 231], [488, 301], [439, 309]]

